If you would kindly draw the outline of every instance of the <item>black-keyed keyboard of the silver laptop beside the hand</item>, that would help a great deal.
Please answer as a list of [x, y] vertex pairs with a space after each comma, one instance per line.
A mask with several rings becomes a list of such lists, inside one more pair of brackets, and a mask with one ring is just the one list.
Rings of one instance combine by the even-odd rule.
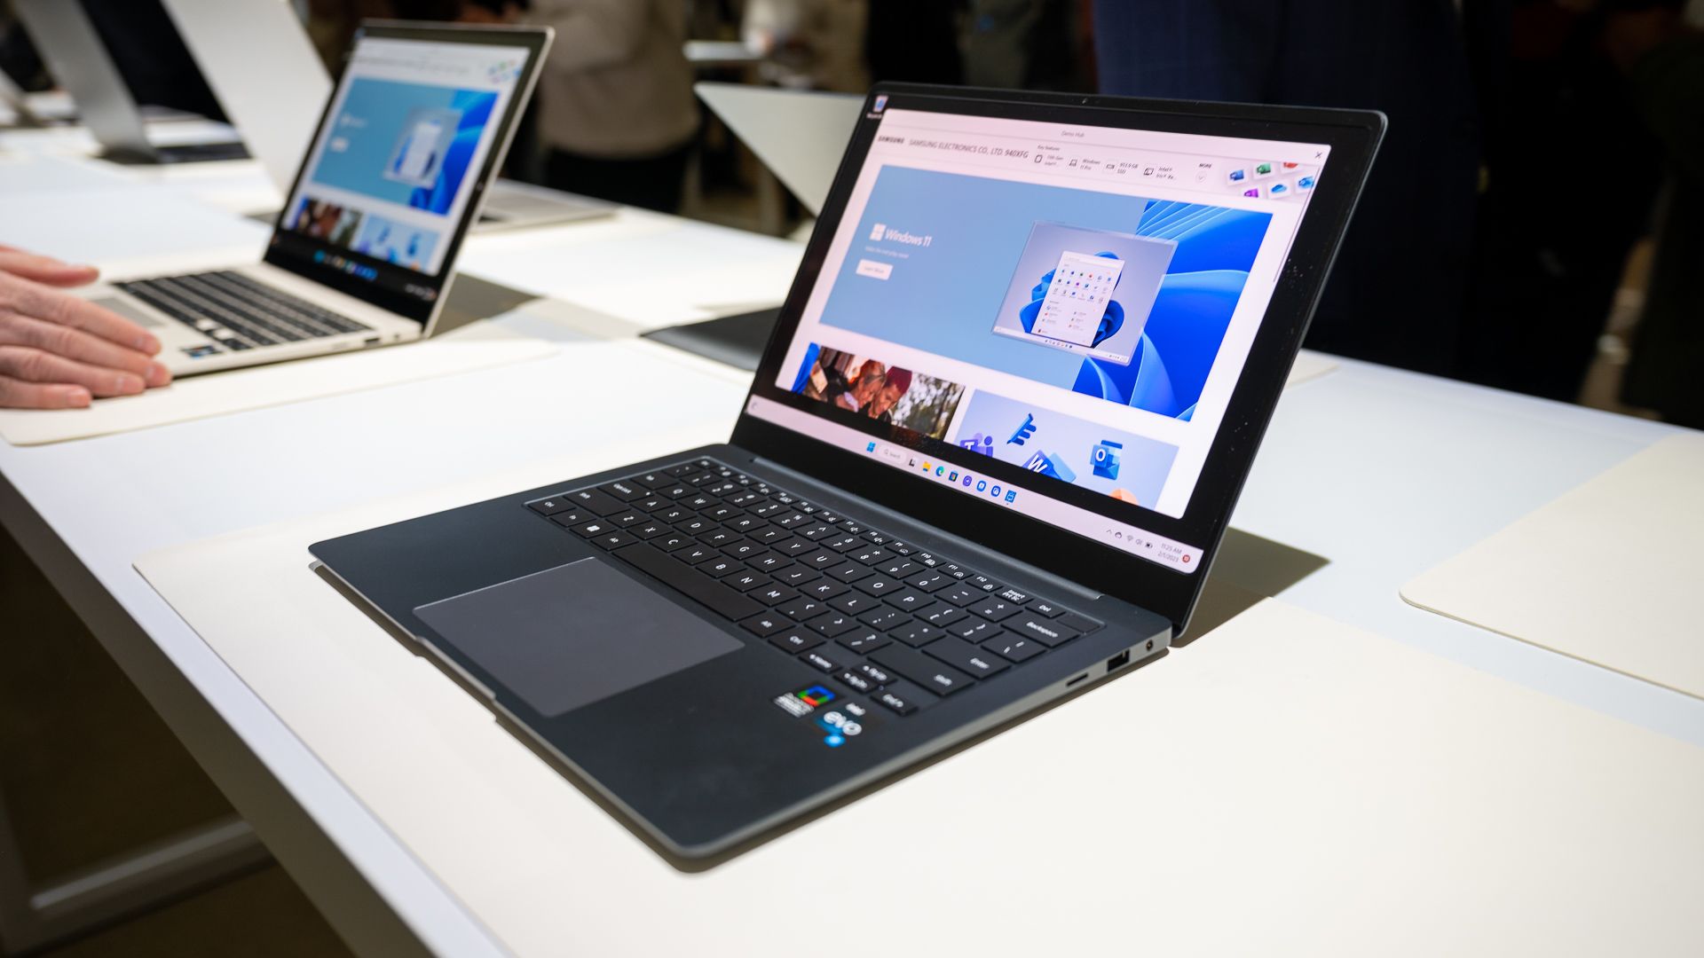
[[114, 286], [216, 343], [189, 348], [193, 356], [370, 329], [233, 271], [162, 276]]

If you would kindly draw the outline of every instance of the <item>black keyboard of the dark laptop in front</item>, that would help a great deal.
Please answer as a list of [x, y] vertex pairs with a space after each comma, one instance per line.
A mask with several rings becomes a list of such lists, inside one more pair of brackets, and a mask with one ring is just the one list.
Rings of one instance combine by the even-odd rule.
[[901, 716], [1101, 627], [712, 459], [527, 508]]

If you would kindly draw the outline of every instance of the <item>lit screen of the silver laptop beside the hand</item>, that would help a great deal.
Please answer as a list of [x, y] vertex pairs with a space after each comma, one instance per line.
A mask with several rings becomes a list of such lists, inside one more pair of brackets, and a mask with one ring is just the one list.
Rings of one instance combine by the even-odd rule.
[[481, 41], [356, 38], [279, 215], [274, 254], [290, 254], [308, 278], [341, 274], [354, 295], [400, 295], [429, 312], [528, 77], [532, 51], [518, 38], [508, 46], [472, 36]]

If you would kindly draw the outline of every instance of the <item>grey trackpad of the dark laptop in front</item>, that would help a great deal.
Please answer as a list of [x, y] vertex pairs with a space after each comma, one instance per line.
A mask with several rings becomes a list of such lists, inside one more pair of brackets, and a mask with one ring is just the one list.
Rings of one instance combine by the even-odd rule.
[[743, 648], [598, 557], [421, 605], [414, 614], [544, 716]]

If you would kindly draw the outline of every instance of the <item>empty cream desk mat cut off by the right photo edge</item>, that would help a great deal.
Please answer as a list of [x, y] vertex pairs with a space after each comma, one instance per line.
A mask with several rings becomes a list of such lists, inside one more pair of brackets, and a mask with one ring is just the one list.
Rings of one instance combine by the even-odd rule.
[[1402, 586], [1413, 605], [1704, 699], [1704, 433], [1660, 440]]

